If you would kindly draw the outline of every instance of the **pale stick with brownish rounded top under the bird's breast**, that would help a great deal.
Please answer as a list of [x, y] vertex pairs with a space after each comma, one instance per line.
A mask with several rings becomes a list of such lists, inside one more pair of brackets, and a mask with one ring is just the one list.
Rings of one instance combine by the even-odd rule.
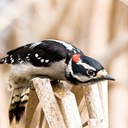
[[67, 128], [82, 128], [75, 95], [65, 89], [61, 83], [52, 83]]

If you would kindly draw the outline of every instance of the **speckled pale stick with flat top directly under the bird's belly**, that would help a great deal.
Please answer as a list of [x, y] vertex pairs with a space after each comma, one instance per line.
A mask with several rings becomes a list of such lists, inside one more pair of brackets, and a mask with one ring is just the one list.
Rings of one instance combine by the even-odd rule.
[[66, 128], [59, 105], [53, 93], [50, 80], [34, 78], [32, 81], [49, 127]]

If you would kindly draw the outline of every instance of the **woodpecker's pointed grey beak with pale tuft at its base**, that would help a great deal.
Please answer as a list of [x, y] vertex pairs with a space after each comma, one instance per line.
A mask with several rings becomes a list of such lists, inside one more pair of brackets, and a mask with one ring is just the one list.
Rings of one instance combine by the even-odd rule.
[[109, 76], [106, 72], [105, 69], [103, 70], [100, 70], [98, 73], [97, 73], [97, 77], [100, 78], [100, 79], [104, 79], [104, 80], [112, 80], [114, 81], [115, 79], [112, 78], [111, 76]]

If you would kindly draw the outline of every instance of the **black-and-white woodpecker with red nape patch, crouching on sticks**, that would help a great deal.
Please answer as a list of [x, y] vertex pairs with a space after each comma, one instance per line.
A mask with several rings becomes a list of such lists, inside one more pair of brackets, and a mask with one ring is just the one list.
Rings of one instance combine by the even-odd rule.
[[29, 98], [30, 81], [34, 77], [67, 81], [74, 86], [87, 86], [103, 80], [115, 80], [95, 59], [74, 45], [54, 39], [29, 43], [7, 52], [0, 64], [11, 65], [9, 88], [12, 97], [9, 120], [18, 123]]

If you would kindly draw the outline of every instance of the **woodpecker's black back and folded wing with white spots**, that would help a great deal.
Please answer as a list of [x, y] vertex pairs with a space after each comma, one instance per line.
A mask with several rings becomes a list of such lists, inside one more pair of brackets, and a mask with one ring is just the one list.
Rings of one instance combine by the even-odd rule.
[[30, 62], [34, 66], [49, 66], [52, 62], [63, 59], [68, 63], [74, 53], [83, 54], [65, 42], [43, 40], [9, 51], [6, 62], [12, 64]]

